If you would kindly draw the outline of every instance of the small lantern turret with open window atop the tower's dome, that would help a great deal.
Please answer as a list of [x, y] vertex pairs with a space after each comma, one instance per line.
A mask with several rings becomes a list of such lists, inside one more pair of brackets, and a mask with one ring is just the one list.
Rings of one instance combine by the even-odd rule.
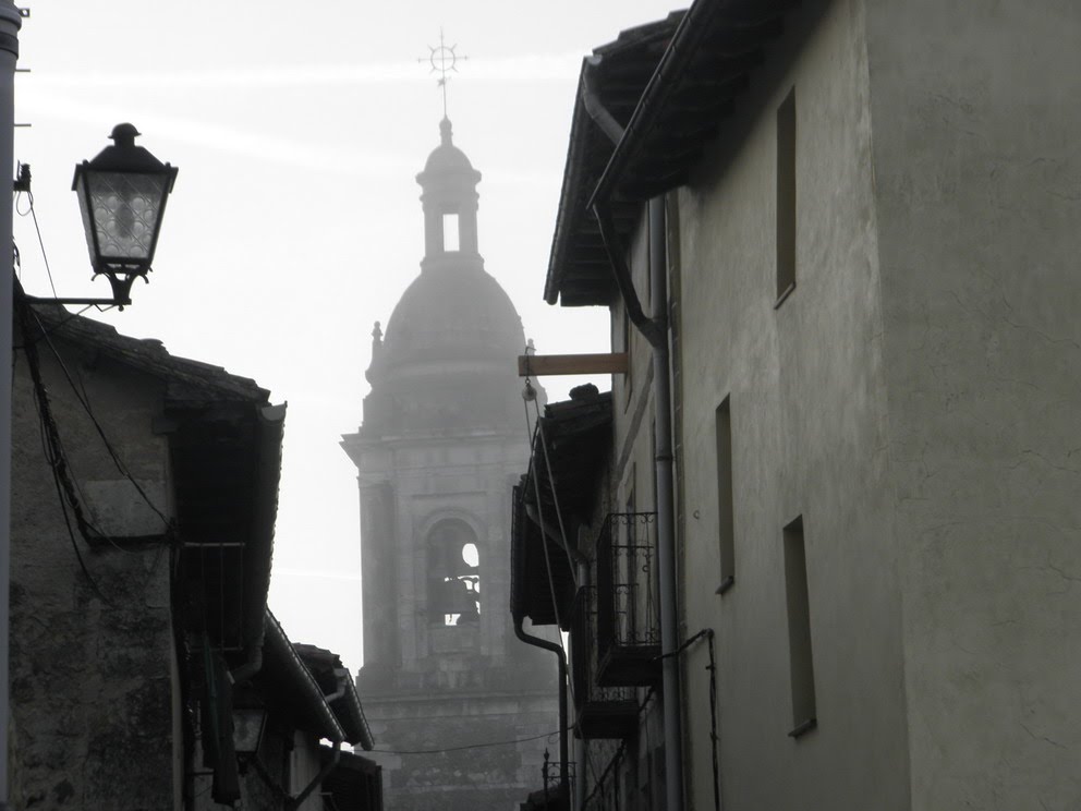
[[[481, 267], [476, 241], [476, 184], [481, 172], [454, 146], [450, 119], [439, 122], [440, 144], [428, 156], [416, 182], [424, 190], [423, 270], [444, 266]], [[449, 262], [448, 262], [449, 261]]]

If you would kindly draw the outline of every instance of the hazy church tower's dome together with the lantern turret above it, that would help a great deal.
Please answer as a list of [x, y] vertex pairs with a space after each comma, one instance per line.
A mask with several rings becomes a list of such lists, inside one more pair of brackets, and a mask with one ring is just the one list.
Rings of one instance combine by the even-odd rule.
[[425, 254], [387, 324], [373, 335], [365, 433], [502, 428], [521, 421], [515, 356], [525, 336], [510, 296], [477, 250], [481, 172], [440, 144], [416, 175], [423, 189]]

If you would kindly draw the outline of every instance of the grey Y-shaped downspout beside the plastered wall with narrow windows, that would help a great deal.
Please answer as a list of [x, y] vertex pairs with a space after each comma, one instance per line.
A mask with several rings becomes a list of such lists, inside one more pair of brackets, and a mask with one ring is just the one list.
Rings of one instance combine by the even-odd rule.
[[[594, 116], [593, 109], [600, 108], [599, 99], [592, 89], [590, 69], [583, 72], [582, 100], [597, 125], [612, 137], [604, 116]], [[607, 112], [606, 112], [607, 114]], [[607, 114], [610, 119], [611, 116]], [[619, 138], [622, 137], [619, 130]], [[618, 143], [618, 138], [614, 138]], [[647, 318], [642, 311], [634, 283], [616, 233], [611, 209], [607, 201], [594, 199], [593, 214], [600, 228], [605, 251], [611, 265], [612, 276], [628, 317], [653, 348], [653, 403], [656, 411], [654, 440], [656, 445], [655, 470], [657, 480], [657, 569], [660, 591], [660, 652], [665, 721], [665, 780], [666, 810], [682, 811], [683, 808], [683, 723], [680, 700], [679, 618], [677, 614], [676, 580], [676, 531], [675, 505], [672, 499], [672, 441], [671, 441], [671, 383], [669, 380], [668, 356], [668, 275], [665, 256], [665, 209], [664, 201], [654, 197], [647, 204], [647, 228], [649, 237], [651, 301], [654, 315]]]

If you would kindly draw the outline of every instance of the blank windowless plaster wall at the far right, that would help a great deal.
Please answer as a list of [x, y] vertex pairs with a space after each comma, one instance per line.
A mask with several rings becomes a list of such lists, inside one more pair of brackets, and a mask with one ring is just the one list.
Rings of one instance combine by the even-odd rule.
[[1081, 10], [867, 0], [914, 809], [1081, 803]]

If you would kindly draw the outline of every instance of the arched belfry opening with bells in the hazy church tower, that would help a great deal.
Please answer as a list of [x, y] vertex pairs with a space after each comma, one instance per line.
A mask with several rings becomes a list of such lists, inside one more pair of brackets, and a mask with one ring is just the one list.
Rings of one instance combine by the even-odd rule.
[[442, 626], [481, 620], [481, 560], [464, 521], [440, 521], [428, 533], [428, 612]]

